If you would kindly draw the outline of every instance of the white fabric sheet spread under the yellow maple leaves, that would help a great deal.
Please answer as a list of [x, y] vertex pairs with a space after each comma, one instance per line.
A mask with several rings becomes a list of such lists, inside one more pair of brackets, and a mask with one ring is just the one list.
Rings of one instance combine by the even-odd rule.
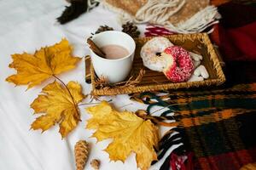
[[[85, 106], [79, 107], [82, 122], [66, 139], [61, 139], [57, 125], [44, 133], [30, 130], [31, 123], [37, 117], [33, 115], [30, 104], [52, 79], [27, 91], [26, 86], [15, 87], [14, 84], [5, 82], [6, 77], [15, 73], [14, 69], [8, 67], [11, 62], [10, 54], [25, 51], [33, 53], [37, 48], [52, 45], [66, 37], [73, 44], [74, 54], [83, 57], [89, 54], [85, 37], [96, 31], [98, 26], [106, 24], [117, 30], [121, 29], [115, 14], [102, 7], [83, 14], [67, 25], [58, 25], [55, 18], [61, 14], [64, 5], [67, 5], [64, 0], [0, 0], [0, 169], [75, 169], [73, 146], [79, 139], [86, 139], [91, 146], [85, 169], [91, 169], [90, 161], [95, 158], [102, 161], [102, 170], [137, 169], [134, 154], [125, 163], [109, 161], [108, 153], [103, 150], [110, 140], [96, 143], [96, 139], [89, 138], [93, 131], [84, 128], [90, 117], [84, 111]], [[84, 61], [76, 69], [61, 74], [60, 77], [64, 82], [73, 80], [81, 83], [84, 94], [90, 93], [90, 84], [84, 82]], [[116, 106], [131, 103], [127, 95], [104, 99], [113, 99]], [[137, 111], [144, 108], [146, 105], [134, 104], [123, 109]], [[150, 169], [159, 169], [160, 164]]]

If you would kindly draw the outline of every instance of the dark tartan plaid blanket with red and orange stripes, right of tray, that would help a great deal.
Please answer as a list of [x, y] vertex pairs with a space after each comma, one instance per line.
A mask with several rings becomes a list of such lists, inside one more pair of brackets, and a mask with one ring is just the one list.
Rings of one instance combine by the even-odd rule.
[[[222, 15], [211, 38], [226, 63], [227, 82], [218, 88], [131, 96], [148, 104], [148, 114], [155, 105], [167, 108], [159, 121], [175, 121], [160, 140], [159, 159], [173, 144], [178, 147], [166, 157], [161, 170], [256, 169], [256, 2], [212, 3], [219, 5]], [[145, 36], [175, 33], [160, 26], [146, 30]]]

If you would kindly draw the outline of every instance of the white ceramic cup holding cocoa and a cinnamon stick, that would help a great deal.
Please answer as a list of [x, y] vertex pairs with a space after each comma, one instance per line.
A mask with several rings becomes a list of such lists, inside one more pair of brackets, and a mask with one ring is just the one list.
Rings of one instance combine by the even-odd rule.
[[92, 65], [98, 77], [107, 77], [108, 82], [122, 82], [131, 71], [135, 42], [128, 34], [121, 31], [103, 31], [92, 37], [99, 48], [105, 45], [119, 45], [126, 48], [129, 54], [120, 59], [104, 59], [90, 49]]

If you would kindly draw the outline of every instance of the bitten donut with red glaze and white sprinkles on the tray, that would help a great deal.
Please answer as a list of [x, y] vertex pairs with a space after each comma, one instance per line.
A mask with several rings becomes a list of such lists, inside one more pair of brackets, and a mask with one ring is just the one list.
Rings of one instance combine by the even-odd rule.
[[184, 48], [168, 47], [161, 56], [166, 60], [163, 72], [172, 82], [186, 82], [192, 76], [194, 65], [189, 52]]

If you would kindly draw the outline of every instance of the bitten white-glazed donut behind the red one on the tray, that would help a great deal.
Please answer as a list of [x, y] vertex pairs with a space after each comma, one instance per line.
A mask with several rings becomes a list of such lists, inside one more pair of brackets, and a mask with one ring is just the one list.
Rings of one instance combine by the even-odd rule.
[[152, 71], [163, 71], [166, 61], [160, 54], [172, 45], [166, 37], [154, 37], [146, 42], [141, 50], [143, 65]]

